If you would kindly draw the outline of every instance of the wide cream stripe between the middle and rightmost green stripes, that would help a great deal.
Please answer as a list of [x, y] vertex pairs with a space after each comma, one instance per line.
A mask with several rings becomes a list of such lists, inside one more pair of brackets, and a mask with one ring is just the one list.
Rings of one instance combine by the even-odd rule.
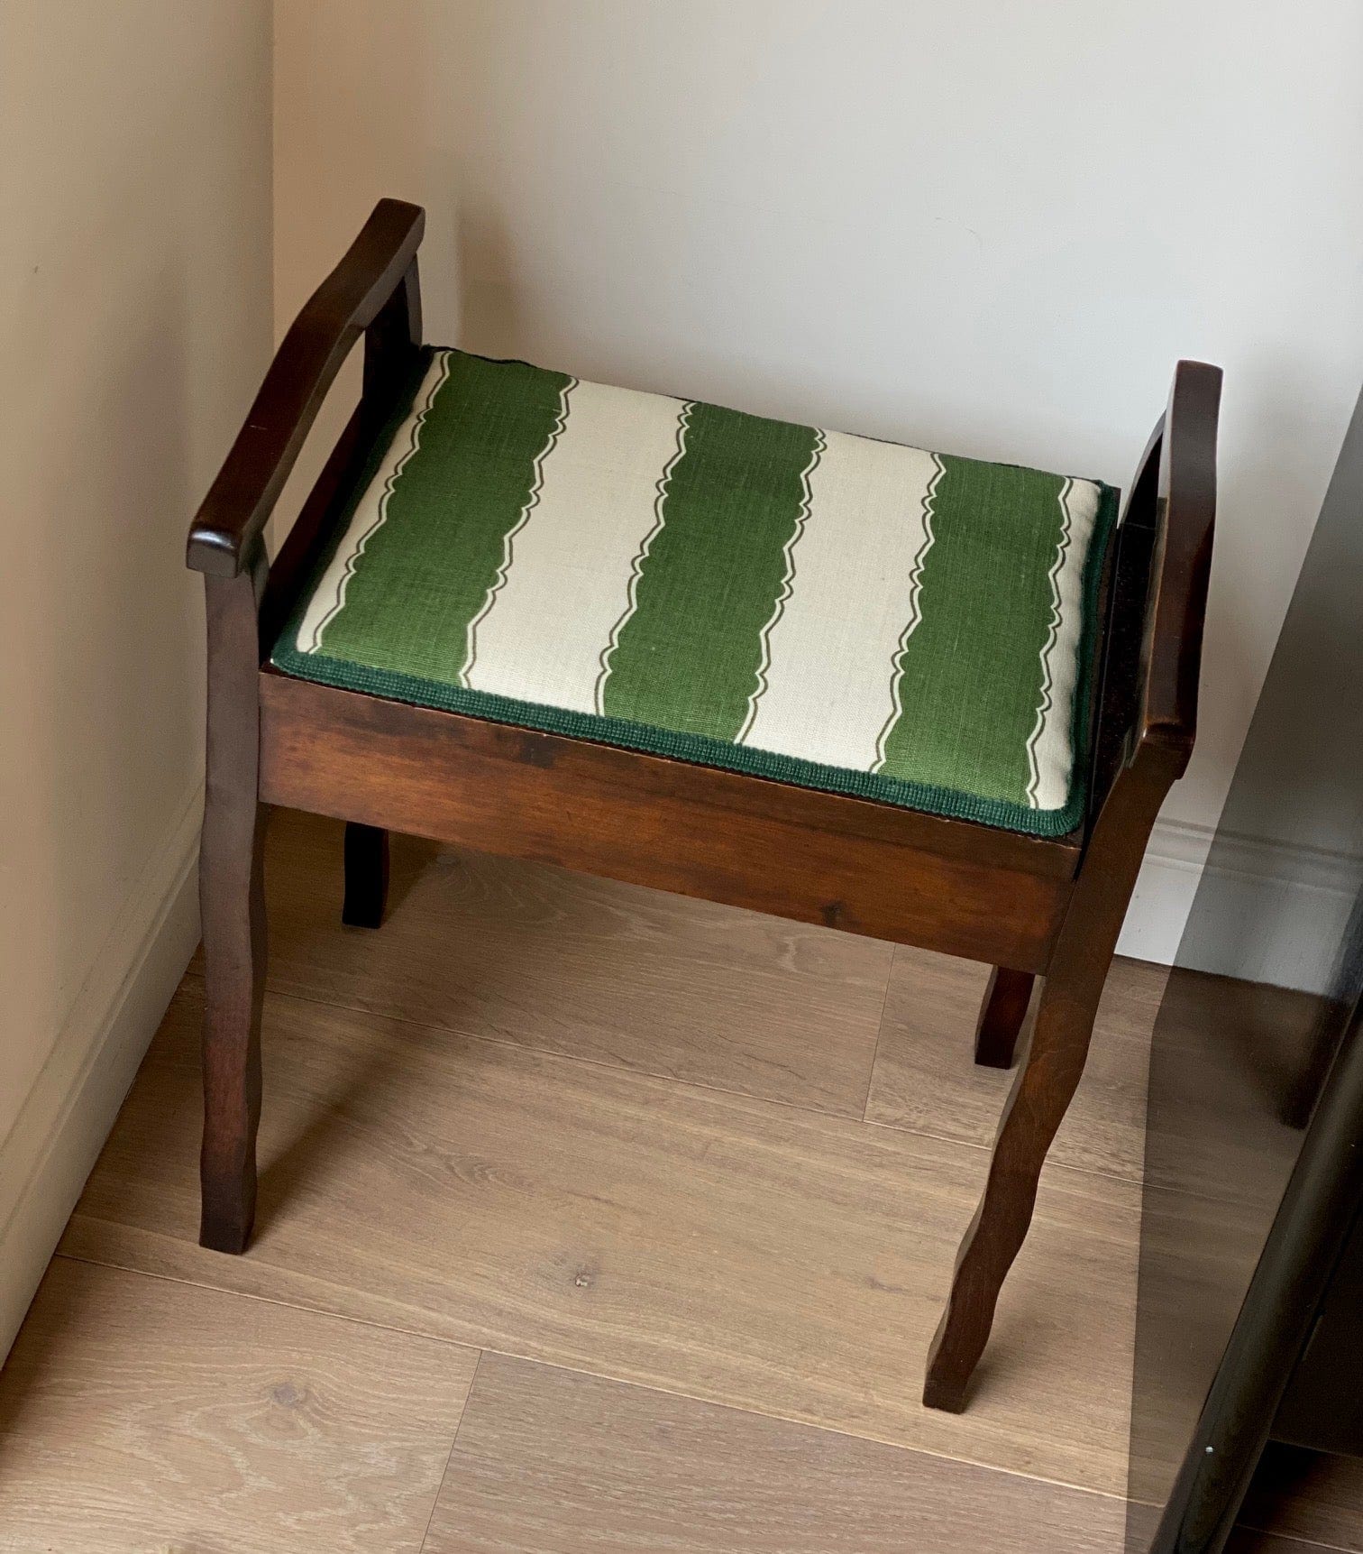
[[899, 650], [917, 620], [941, 466], [916, 448], [824, 437], [790, 598], [768, 639], [767, 693], [742, 743], [869, 771], [894, 718]]

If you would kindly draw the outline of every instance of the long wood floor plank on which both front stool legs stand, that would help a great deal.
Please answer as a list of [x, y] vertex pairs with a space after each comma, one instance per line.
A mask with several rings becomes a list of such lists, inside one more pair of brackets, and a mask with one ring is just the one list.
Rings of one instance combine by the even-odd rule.
[[200, 1001], [186, 982], [73, 1256], [1122, 1492], [1130, 1184], [1048, 1169], [950, 1416], [922, 1368], [983, 1150], [270, 995], [261, 1234], [224, 1257], [196, 1245]]

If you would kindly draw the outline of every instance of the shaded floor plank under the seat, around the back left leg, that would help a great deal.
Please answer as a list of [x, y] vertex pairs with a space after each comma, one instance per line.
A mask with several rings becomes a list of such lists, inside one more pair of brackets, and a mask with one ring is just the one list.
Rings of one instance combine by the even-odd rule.
[[383, 928], [342, 928], [342, 831], [273, 816], [276, 991], [862, 1116], [891, 945], [404, 836]]

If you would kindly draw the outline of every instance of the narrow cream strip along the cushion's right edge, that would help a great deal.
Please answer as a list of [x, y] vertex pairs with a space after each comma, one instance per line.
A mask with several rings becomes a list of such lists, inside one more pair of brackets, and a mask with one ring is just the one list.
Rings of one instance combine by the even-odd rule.
[[1028, 740], [1028, 803], [1034, 810], [1059, 810], [1070, 797], [1084, 563], [1098, 517], [1098, 486], [1088, 480], [1066, 480], [1060, 488], [1060, 507], [1065, 522], [1051, 566], [1051, 629], [1042, 650], [1042, 701]]

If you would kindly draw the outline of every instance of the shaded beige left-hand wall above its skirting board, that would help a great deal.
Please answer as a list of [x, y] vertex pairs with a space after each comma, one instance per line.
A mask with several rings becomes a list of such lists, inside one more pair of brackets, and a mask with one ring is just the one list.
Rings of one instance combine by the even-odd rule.
[[269, 0], [0, 5], [0, 1355], [197, 937], [189, 516], [270, 350]]

